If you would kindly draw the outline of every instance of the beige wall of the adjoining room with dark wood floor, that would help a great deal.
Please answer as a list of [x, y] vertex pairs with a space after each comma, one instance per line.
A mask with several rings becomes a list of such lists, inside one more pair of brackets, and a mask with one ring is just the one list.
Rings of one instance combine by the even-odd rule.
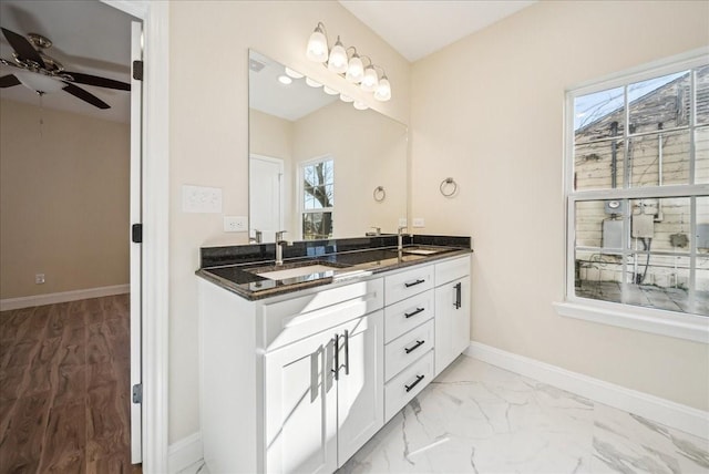
[[129, 192], [127, 124], [1, 101], [0, 298], [127, 284]]

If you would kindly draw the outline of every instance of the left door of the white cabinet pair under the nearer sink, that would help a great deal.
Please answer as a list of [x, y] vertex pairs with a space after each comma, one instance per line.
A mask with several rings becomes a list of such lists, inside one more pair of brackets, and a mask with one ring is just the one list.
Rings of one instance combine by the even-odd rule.
[[335, 333], [321, 332], [265, 356], [266, 472], [337, 470]]

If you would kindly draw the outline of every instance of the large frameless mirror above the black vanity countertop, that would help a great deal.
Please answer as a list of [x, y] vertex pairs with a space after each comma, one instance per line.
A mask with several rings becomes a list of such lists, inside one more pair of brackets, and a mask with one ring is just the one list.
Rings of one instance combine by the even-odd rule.
[[249, 51], [249, 236], [395, 233], [407, 217], [407, 126]]

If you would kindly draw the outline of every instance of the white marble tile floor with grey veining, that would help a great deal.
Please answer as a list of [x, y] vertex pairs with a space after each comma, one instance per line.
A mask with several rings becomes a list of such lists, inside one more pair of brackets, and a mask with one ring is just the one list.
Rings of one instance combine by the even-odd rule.
[[461, 356], [338, 471], [360, 473], [699, 474], [709, 441]]

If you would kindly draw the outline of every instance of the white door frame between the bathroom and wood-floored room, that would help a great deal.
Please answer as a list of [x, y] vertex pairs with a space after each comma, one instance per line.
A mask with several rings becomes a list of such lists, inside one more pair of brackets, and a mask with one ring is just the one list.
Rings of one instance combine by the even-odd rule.
[[100, 0], [143, 20], [143, 472], [167, 472], [169, 6]]

